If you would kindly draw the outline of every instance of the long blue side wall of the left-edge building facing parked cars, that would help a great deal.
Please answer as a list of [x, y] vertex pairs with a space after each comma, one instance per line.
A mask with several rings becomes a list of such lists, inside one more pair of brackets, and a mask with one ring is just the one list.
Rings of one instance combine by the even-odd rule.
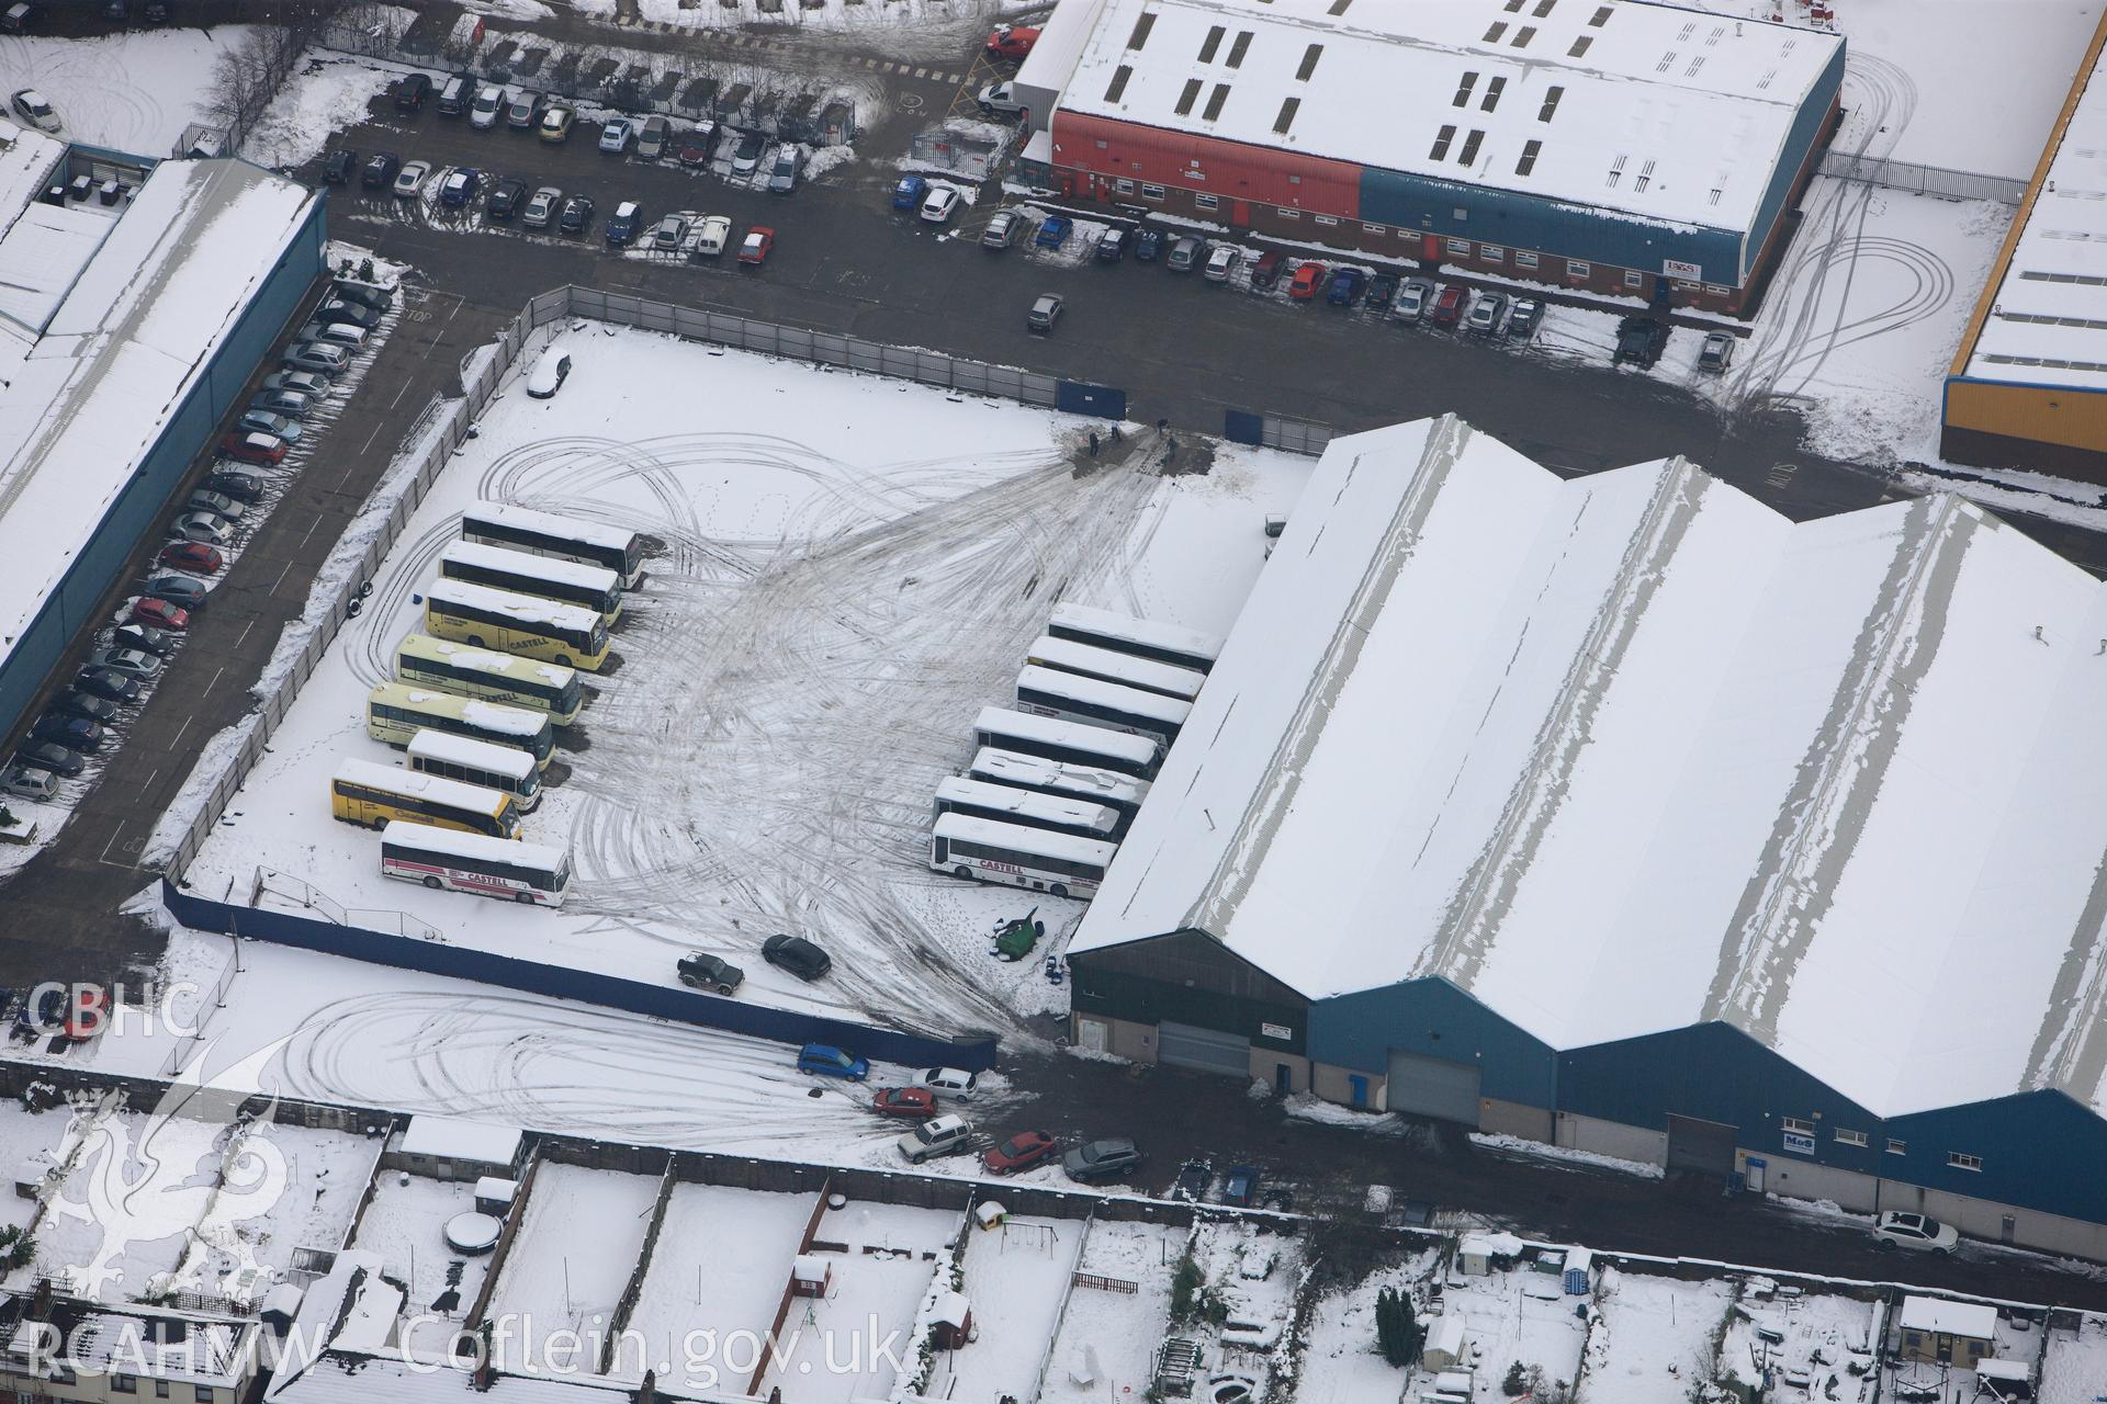
[[322, 196], [316, 196], [308, 221], [287, 246], [270, 280], [249, 303], [190, 394], [171, 413], [169, 425], [139, 461], [110, 512], [103, 514], [101, 526], [88, 537], [44, 608], [23, 631], [6, 667], [0, 667], [0, 730], [21, 722], [23, 711], [74, 636], [84, 625], [99, 621], [101, 598], [116, 583], [139, 541], [154, 530], [190, 463], [206, 446], [213, 429], [263, 362], [272, 341], [322, 274], [324, 208]]

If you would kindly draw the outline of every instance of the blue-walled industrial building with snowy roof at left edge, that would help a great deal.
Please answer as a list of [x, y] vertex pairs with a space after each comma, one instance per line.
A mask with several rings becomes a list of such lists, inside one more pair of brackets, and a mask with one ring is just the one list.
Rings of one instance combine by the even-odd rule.
[[0, 120], [0, 733], [322, 272], [322, 196]]

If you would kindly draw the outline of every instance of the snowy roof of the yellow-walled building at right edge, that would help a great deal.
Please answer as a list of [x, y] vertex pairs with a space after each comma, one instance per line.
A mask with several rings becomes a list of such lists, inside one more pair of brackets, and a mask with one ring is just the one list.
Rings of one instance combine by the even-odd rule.
[[[2107, 27], [2107, 19], [2103, 19]], [[1966, 375], [1978, 381], [2107, 389], [2107, 51], [2078, 74]]]

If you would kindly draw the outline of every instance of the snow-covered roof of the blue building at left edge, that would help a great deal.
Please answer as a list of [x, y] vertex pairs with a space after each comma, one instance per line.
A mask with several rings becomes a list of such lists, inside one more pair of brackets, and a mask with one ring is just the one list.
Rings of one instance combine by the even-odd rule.
[[[11, 276], [17, 261], [36, 267], [32, 286], [0, 312], [42, 324], [36, 335], [0, 320], [0, 659], [318, 198], [236, 160], [162, 162], [114, 221], [97, 217], [105, 229], [76, 261], [80, 227], [51, 227], [53, 206], [42, 206], [51, 215], [27, 215], [25, 202], [51, 175], [51, 152], [27, 145], [36, 160], [17, 156], [25, 137], [8, 143], [0, 133], [0, 265]], [[17, 240], [23, 219], [40, 234]], [[78, 225], [78, 217], [61, 225]]]

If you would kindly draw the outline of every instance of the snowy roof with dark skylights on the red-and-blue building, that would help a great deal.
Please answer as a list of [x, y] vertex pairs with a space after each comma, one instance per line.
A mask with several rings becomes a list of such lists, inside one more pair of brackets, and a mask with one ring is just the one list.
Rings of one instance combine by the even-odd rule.
[[1842, 44], [1637, 0], [1106, 0], [1060, 109], [1747, 229]]

